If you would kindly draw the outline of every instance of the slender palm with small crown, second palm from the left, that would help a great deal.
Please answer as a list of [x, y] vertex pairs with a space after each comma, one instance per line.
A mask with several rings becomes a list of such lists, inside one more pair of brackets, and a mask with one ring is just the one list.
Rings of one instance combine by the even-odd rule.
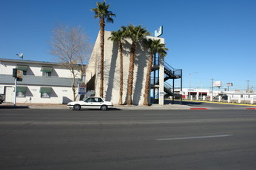
[[118, 104], [121, 105], [123, 104], [123, 42], [122, 40], [124, 39], [124, 32], [125, 28], [119, 29], [117, 32], [112, 31], [111, 36], [109, 39], [112, 41], [117, 41], [118, 42], [118, 48], [119, 48], [119, 56], [120, 56], [120, 89], [119, 89], [119, 102]]

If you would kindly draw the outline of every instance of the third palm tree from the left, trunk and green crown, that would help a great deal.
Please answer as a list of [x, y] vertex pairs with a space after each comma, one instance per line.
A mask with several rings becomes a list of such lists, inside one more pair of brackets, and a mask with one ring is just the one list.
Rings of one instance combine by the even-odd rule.
[[132, 93], [133, 93], [133, 70], [134, 70], [134, 57], [136, 53], [137, 42], [140, 42], [145, 36], [149, 36], [150, 32], [146, 28], [141, 26], [127, 26], [126, 37], [132, 40], [132, 45], [130, 47], [130, 66], [128, 75], [128, 93], [127, 93], [127, 104], [132, 105]]

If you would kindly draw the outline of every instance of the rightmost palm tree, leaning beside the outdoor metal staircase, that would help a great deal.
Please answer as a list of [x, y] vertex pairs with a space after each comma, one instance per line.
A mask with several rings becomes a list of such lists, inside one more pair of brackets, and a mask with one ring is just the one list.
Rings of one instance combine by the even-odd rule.
[[144, 92], [144, 105], [148, 105], [148, 94], [150, 92], [150, 73], [152, 69], [152, 61], [153, 55], [158, 53], [159, 56], [166, 56], [168, 49], [165, 47], [165, 44], [160, 42], [160, 39], [144, 39], [144, 44], [150, 51], [150, 58], [148, 59], [147, 63], [147, 75], [146, 75], [146, 85], [145, 85], [145, 92]]

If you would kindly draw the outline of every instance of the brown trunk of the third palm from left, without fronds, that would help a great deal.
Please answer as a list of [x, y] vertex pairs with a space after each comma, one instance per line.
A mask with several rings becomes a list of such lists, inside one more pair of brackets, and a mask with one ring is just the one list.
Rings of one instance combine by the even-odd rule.
[[128, 97], [127, 104], [132, 105], [132, 93], [133, 93], [133, 70], [134, 70], [134, 57], [135, 57], [136, 45], [133, 42], [130, 48], [130, 66], [129, 66], [129, 76], [128, 76]]

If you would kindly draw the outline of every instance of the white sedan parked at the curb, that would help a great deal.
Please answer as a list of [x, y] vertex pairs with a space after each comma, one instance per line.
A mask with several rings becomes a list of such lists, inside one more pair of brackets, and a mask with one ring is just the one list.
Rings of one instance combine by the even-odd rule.
[[67, 107], [74, 110], [81, 109], [100, 109], [107, 110], [113, 107], [112, 102], [105, 101], [102, 97], [88, 97], [85, 100], [72, 101], [67, 104]]

